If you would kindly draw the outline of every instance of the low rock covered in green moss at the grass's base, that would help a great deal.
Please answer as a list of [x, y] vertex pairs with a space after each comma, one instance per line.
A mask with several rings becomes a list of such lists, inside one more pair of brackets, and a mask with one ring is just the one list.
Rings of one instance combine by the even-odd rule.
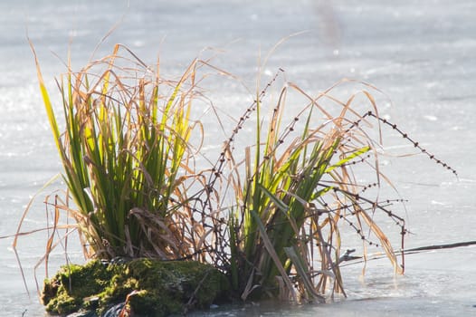
[[134, 316], [167, 316], [206, 308], [229, 293], [224, 274], [197, 262], [136, 259], [123, 264], [66, 265], [43, 288], [48, 312], [65, 315], [79, 310], [98, 315], [125, 303]]

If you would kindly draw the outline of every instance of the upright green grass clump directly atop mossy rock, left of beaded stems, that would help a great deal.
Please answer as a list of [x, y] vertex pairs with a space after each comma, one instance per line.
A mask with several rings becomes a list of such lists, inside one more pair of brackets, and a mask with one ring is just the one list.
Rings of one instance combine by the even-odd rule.
[[[72, 216], [94, 257], [176, 259], [203, 248], [205, 229], [189, 223], [187, 187], [199, 180], [189, 144], [197, 61], [164, 81], [133, 53], [71, 70], [57, 82], [66, 124], [60, 132], [39, 65], [43, 101], [77, 209]], [[121, 63], [132, 63], [126, 68]], [[164, 94], [168, 92], [169, 94]]]

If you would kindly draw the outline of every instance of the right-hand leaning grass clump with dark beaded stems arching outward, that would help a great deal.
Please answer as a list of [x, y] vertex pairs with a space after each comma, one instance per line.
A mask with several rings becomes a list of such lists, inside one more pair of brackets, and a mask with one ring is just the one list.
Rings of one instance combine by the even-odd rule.
[[[379, 123], [385, 123], [430, 159], [456, 172], [434, 159], [395, 124], [378, 116], [376, 102], [368, 91], [376, 90], [371, 85], [363, 83], [362, 91], [343, 102], [331, 95], [336, 86], [311, 97], [287, 82], [270, 105], [266, 91], [276, 77], [238, 121], [214, 173], [232, 184], [236, 197], [226, 243], [230, 247], [233, 287], [243, 299], [279, 295], [295, 301], [322, 302], [329, 288], [331, 294], [345, 295], [339, 264], [349, 258], [341, 251], [341, 230], [346, 226], [356, 232], [364, 250], [367, 245], [381, 247], [395, 273], [403, 273], [403, 254], [399, 263], [394, 247], [375, 220], [375, 215], [381, 213], [399, 227], [400, 250], [404, 250], [405, 219], [390, 209], [392, 203], [403, 200], [365, 196], [367, 189], [380, 187], [382, 181], [391, 185], [378, 167], [379, 142], [370, 137], [366, 126], [381, 133]], [[291, 92], [308, 103], [300, 109], [293, 105], [295, 112], [290, 115], [285, 108]], [[363, 115], [353, 109], [357, 94], [367, 99], [371, 109]], [[330, 108], [337, 108], [338, 114], [332, 115]], [[266, 109], [270, 113], [267, 121], [261, 114]], [[242, 148], [235, 139], [252, 115], [256, 116], [255, 141], [245, 147], [244, 159], [238, 161], [233, 155], [237, 151], [240, 155]], [[376, 128], [372, 128], [371, 120], [376, 120]], [[359, 183], [353, 173], [356, 165], [367, 167], [375, 175], [375, 182]], [[215, 181], [211, 178], [210, 184]]]

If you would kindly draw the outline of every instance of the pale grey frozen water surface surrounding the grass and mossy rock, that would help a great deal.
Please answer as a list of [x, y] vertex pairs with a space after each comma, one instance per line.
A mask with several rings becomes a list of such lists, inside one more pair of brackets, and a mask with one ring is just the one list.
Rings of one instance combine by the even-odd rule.
[[[406, 245], [476, 240], [476, 3], [472, 0], [72, 3], [0, 4], [0, 236], [14, 233], [29, 198], [62, 170], [26, 33], [35, 45], [45, 80], [54, 88], [53, 77], [65, 71], [62, 61], [68, 47], [78, 69], [117, 24], [97, 57], [110, 53], [114, 43], [124, 43], [145, 62], [154, 63], [160, 55], [162, 72], [178, 74], [197, 55], [214, 52], [204, 52], [213, 47], [220, 51], [214, 63], [240, 76], [249, 87], [260, 52], [264, 56], [281, 38], [305, 31], [271, 54], [264, 76], [281, 67], [288, 80], [309, 91], [322, 91], [341, 78], [370, 82], [385, 91], [392, 102], [382, 98], [380, 114], [459, 172], [456, 179], [424, 156], [383, 162], [386, 175], [408, 199], [401, 214], [414, 235]], [[210, 88], [214, 104], [227, 111], [226, 107], [238, 109], [237, 113], [248, 105], [243, 101], [245, 92], [218, 83]], [[391, 153], [412, 152], [411, 144], [389, 132], [385, 145]], [[26, 228], [44, 225], [43, 196], [33, 204]], [[44, 233], [24, 236], [19, 245], [31, 299], [24, 291], [11, 244], [12, 238], [0, 239], [1, 314], [42, 316], [33, 267], [43, 255]], [[81, 260], [74, 253], [71, 258]], [[53, 255], [52, 269], [63, 261], [63, 255]], [[408, 255], [405, 264], [406, 274], [396, 277], [386, 260], [369, 262], [363, 278], [361, 264], [343, 268], [348, 297], [339, 303], [226, 307], [210, 315], [476, 315], [475, 246]], [[43, 266], [38, 275], [43, 278]]]

